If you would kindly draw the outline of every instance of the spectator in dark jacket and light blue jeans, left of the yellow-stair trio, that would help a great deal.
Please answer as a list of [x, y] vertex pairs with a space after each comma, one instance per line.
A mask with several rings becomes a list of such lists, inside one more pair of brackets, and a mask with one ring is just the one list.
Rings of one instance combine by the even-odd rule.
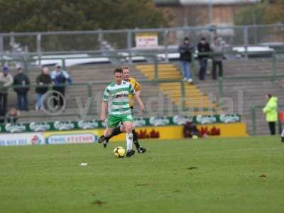
[[178, 47], [180, 53], [180, 61], [182, 62], [183, 80], [189, 83], [192, 82], [190, 63], [192, 60], [192, 52], [194, 47], [190, 45], [190, 39], [185, 37], [183, 44]]

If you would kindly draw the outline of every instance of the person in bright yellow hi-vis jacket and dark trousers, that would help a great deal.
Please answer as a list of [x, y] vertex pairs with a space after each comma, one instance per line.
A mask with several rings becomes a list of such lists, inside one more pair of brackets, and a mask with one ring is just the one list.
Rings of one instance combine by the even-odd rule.
[[262, 111], [266, 114], [266, 121], [268, 122], [271, 135], [275, 135], [275, 122], [278, 121], [278, 99], [277, 97], [273, 97], [271, 94], [266, 94], [266, 99], [266, 107], [264, 107]]

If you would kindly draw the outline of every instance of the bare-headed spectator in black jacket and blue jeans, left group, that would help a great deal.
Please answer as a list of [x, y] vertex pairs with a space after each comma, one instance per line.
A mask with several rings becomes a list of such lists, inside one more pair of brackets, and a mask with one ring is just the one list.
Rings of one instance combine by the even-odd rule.
[[35, 110], [43, 109], [43, 100], [45, 93], [48, 92], [48, 84], [51, 84], [52, 80], [49, 75], [48, 67], [43, 67], [42, 73], [36, 78], [37, 85], [45, 84], [46, 87], [36, 87], [35, 92], [37, 94], [37, 102], [35, 104]]

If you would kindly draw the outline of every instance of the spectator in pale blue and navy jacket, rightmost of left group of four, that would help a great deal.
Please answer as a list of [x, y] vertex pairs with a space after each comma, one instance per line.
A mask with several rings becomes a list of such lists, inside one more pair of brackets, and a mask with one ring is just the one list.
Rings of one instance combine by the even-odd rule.
[[53, 70], [53, 72], [51, 72], [51, 79], [53, 80], [53, 90], [60, 92], [60, 94], [62, 94], [62, 96], [58, 93], [55, 92], [54, 96], [55, 98], [53, 99], [53, 104], [54, 107], [57, 106], [63, 106], [65, 100], [63, 99], [65, 97], [65, 82], [67, 81], [69, 84], [72, 83], [71, 77], [70, 75], [65, 71], [65, 70], [61, 70], [61, 66], [60, 65], [56, 65], [55, 66], [55, 70]]

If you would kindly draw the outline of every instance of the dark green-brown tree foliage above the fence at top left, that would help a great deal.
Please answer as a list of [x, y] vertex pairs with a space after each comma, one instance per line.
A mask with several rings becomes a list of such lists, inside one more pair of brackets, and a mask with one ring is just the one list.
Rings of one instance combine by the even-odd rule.
[[0, 32], [167, 26], [151, 0], [0, 0]]

